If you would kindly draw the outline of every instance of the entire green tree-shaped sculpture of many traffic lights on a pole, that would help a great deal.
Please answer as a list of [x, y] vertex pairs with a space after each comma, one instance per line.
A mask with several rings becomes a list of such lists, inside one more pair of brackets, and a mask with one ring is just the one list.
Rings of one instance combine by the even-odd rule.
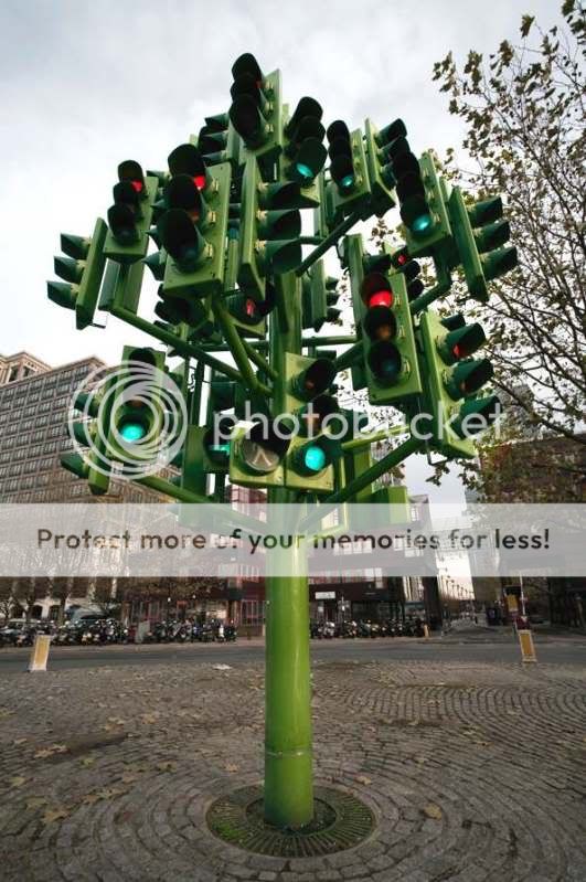
[[[491, 365], [472, 358], [483, 332], [428, 307], [447, 294], [458, 266], [480, 301], [490, 279], [514, 266], [514, 248], [503, 247], [509, 227], [500, 200], [467, 203], [441, 179], [433, 153], [413, 152], [402, 119], [381, 128], [367, 119], [351, 130], [344, 120], [327, 124], [307, 96], [289, 111], [280, 73], [264, 73], [249, 53], [232, 75], [226, 110], [171, 150], [167, 169], [119, 164], [107, 224], [98, 219], [90, 238], [63, 235], [67, 257], [55, 259], [55, 270], [64, 283], [49, 283], [50, 299], [75, 311], [78, 329], [99, 308], [158, 341], [158, 349], [125, 348], [122, 390], [137, 360], [169, 374], [167, 354], [183, 359], [172, 374], [189, 423], [172, 459], [180, 474], [156, 474], [164, 432], [157, 383], [150, 411], [131, 396], [115, 410], [107, 387], [94, 401], [81, 396], [75, 407], [86, 419], [73, 428], [81, 446], [64, 467], [96, 495], [108, 490], [109, 470], [98, 460], [109, 456], [118, 475], [121, 467], [122, 476], [183, 502], [222, 502], [230, 479], [267, 488], [269, 503], [319, 501], [326, 511], [373, 498], [373, 483], [416, 451], [472, 456], [467, 417], [490, 422], [497, 411], [483, 391]], [[352, 226], [393, 209], [404, 245], [367, 254]], [[312, 235], [303, 233], [302, 213], [313, 217]], [[337, 280], [321, 259], [333, 246], [350, 277], [354, 336], [321, 332], [339, 315]], [[436, 266], [428, 290], [415, 258]], [[150, 318], [139, 314], [146, 266], [159, 284]], [[321, 346], [335, 347], [331, 358], [316, 352]], [[225, 351], [233, 363], [219, 357]], [[411, 433], [379, 461], [369, 447], [380, 433], [332, 438], [328, 423], [340, 413], [334, 382], [347, 369], [372, 404], [414, 422], [423, 415], [425, 438]], [[268, 428], [238, 424], [247, 403]], [[294, 417], [298, 434], [277, 432]], [[138, 475], [146, 436], [150, 468]], [[286, 572], [295, 575], [266, 581], [265, 818], [302, 829], [313, 817], [307, 565], [296, 548], [279, 553], [289, 555]]]

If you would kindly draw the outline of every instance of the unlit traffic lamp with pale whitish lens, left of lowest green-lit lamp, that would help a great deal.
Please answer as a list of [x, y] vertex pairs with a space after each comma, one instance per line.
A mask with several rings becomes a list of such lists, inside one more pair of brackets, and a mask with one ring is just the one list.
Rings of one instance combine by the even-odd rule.
[[236, 426], [230, 446], [230, 481], [244, 487], [283, 487], [284, 458], [291, 444], [287, 421], [271, 419]]

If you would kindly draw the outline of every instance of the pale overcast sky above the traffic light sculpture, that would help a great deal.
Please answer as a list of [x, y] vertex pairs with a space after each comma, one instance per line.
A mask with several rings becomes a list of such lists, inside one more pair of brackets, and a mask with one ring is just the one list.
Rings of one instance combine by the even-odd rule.
[[[553, 0], [3, 0], [0, 7], [0, 353], [51, 364], [119, 359], [141, 336], [109, 319], [74, 331], [46, 299], [60, 232], [105, 217], [116, 168], [164, 168], [203, 116], [228, 107], [230, 68], [253, 52], [279, 67], [290, 104], [312, 95], [324, 121], [382, 127], [405, 119], [416, 152], [458, 147], [461, 129], [431, 82], [452, 50], [492, 52], [516, 39], [524, 12], [550, 25]], [[422, 491], [423, 487], [413, 487]]]

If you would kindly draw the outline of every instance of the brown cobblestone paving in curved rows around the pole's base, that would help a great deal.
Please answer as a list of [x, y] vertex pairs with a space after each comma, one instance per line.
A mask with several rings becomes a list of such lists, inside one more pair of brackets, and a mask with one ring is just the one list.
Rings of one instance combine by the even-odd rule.
[[263, 668], [150, 665], [0, 682], [2, 878], [198, 882], [584, 882], [586, 673], [578, 666], [319, 661], [316, 775], [377, 827], [276, 859], [206, 830], [257, 783]]

